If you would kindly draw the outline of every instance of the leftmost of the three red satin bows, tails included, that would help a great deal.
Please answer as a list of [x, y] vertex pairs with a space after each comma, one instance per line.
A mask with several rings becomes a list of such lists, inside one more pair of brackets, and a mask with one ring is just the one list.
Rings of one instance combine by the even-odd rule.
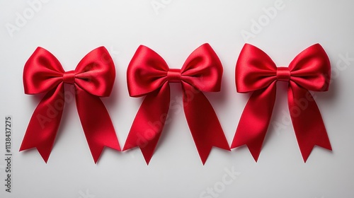
[[[110, 95], [115, 66], [105, 47], [89, 52], [74, 71], [64, 71], [58, 59], [38, 47], [23, 70], [26, 94], [46, 93], [28, 124], [20, 151], [37, 148], [47, 162], [62, 118], [65, 100], [75, 98], [82, 127], [95, 163], [104, 146], [120, 151], [112, 121], [99, 97]], [[74, 93], [64, 93], [64, 83]], [[72, 94], [72, 95], [71, 95]]]

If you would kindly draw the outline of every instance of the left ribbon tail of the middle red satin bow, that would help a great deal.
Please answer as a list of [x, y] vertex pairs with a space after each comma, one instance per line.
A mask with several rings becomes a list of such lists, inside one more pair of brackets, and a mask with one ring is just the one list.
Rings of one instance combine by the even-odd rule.
[[170, 105], [169, 83], [149, 93], [139, 107], [123, 151], [139, 146], [147, 164], [154, 154]]

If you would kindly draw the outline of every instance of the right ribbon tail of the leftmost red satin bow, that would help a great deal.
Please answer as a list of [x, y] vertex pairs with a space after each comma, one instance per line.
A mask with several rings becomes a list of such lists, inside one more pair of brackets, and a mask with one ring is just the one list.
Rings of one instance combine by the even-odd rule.
[[101, 99], [76, 86], [76, 107], [93, 161], [97, 163], [105, 146], [120, 151], [112, 120]]

